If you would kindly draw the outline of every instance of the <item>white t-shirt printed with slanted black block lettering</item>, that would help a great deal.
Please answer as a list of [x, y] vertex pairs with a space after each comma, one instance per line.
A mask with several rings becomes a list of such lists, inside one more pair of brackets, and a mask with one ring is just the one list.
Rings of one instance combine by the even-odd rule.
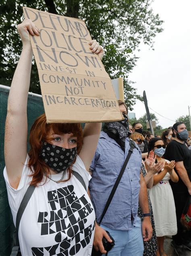
[[[27, 155], [17, 189], [10, 186], [6, 167], [4, 168], [14, 224], [21, 201], [32, 180], [32, 177], [28, 176], [31, 174], [27, 166], [28, 160]], [[88, 187], [91, 176], [85, 170], [79, 156], [72, 169], [82, 176]], [[62, 173], [55, 174], [52, 175], [52, 179], [60, 180], [61, 176]], [[72, 175], [69, 181], [60, 183], [48, 179], [46, 184], [35, 188], [21, 218], [19, 225], [21, 254], [23, 256], [91, 255], [94, 221], [93, 205], [75, 176]]]

